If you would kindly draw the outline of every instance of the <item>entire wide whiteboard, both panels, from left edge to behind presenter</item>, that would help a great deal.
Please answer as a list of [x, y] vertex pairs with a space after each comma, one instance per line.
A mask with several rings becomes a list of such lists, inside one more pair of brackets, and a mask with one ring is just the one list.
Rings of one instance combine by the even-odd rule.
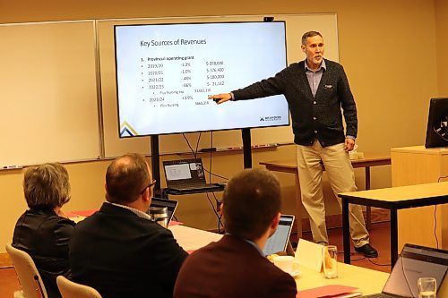
[[[325, 56], [339, 61], [336, 14], [272, 16], [286, 21], [288, 64], [304, 59], [300, 38], [308, 30], [322, 32]], [[262, 15], [0, 25], [0, 169], [151, 153], [149, 137], [118, 137], [115, 24], [260, 20]], [[253, 144], [293, 140], [290, 127], [252, 129], [251, 135]], [[199, 133], [185, 137], [195, 148]], [[240, 131], [220, 131], [203, 132], [198, 147], [241, 145]], [[189, 151], [182, 134], [160, 136], [159, 147], [161, 153]]]

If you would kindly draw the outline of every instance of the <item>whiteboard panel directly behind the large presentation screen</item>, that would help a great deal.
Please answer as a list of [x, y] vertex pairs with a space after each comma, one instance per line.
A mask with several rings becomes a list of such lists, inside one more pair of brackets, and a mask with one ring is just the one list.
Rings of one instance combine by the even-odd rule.
[[[278, 21], [286, 21], [288, 64], [305, 59], [305, 55], [300, 49], [300, 38], [304, 32], [309, 30], [317, 30], [323, 34], [325, 57], [333, 61], [339, 61], [338, 30], [335, 13], [301, 15], [274, 14], [270, 16], [273, 16], [275, 20]], [[125, 152], [140, 152], [142, 154], [150, 153], [150, 137], [138, 137], [133, 139], [120, 139], [118, 137], [114, 25], [260, 20], [263, 20], [262, 15], [98, 21], [105, 156], [115, 157]], [[275, 73], [272, 73], [272, 75], [273, 74]], [[294, 139], [290, 126], [252, 129], [251, 135], [253, 144], [289, 143]], [[190, 140], [193, 148], [195, 148], [199, 133], [187, 133], [185, 134], [185, 137]], [[242, 145], [240, 131], [213, 132], [212, 139], [213, 143], [211, 144], [211, 132], [202, 132], [199, 149], [211, 146], [217, 149], [228, 149]], [[159, 136], [159, 147], [162, 154], [189, 151], [188, 145], [182, 134]]]

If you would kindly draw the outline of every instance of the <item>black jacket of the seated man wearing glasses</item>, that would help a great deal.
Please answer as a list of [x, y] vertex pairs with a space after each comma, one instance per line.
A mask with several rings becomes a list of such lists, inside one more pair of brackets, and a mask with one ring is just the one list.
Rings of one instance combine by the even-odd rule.
[[186, 256], [169, 230], [106, 202], [75, 227], [70, 242], [73, 281], [103, 298], [172, 297]]

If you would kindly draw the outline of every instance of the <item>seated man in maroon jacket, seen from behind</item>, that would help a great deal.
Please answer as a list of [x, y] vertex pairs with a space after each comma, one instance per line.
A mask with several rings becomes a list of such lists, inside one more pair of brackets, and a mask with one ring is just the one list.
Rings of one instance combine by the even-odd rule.
[[294, 279], [263, 255], [280, 221], [280, 183], [267, 170], [234, 176], [223, 195], [226, 232], [194, 251], [180, 269], [175, 298], [294, 298]]

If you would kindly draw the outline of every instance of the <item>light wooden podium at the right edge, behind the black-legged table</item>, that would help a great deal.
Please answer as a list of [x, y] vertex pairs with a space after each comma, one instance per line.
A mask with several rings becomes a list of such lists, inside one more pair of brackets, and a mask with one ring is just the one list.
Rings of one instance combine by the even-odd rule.
[[[448, 181], [448, 148], [393, 148], [392, 186]], [[448, 193], [448, 189], [446, 190]], [[435, 226], [436, 222], [436, 226]], [[398, 213], [399, 250], [404, 243], [448, 249], [448, 206], [404, 209]]]

